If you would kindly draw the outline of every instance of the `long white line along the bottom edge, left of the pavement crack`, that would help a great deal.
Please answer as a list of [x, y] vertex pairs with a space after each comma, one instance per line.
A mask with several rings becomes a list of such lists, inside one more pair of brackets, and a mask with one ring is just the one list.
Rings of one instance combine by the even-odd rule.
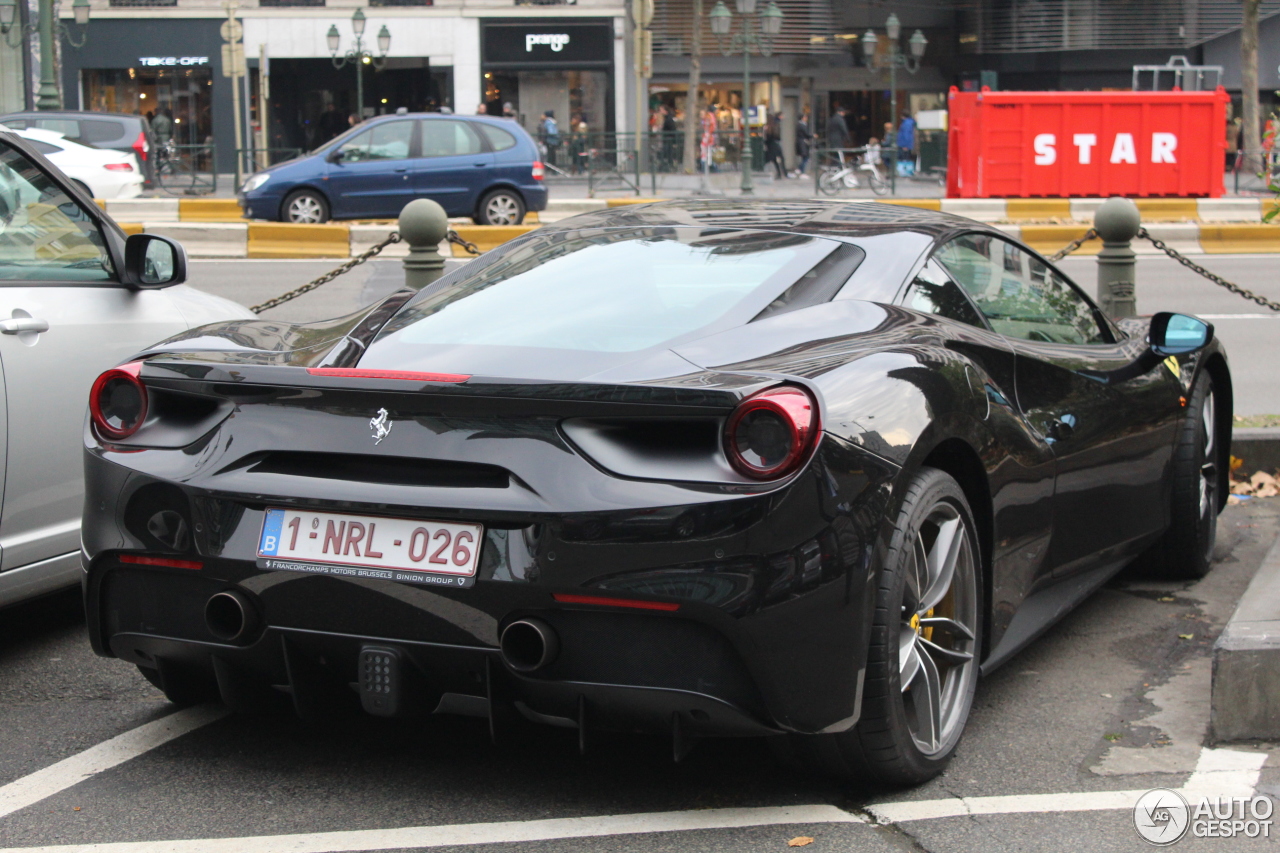
[[10, 848], [0, 853], [352, 853], [403, 850], [465, 844], [548, 841], [564, 838], [644, 835], [690, 830], [778, 826], [786, 824], [864, 824], [865, 820], [835, 806], [782, 806], [768, 808], [708, 808], [690, 812], [652, 812], [607, 817], [567, 817], [504, 824], [410, 826], [393, 830], [315, 833], [311, 835], [260, 835], [257, 838], [193, 839], [182, 841], [125, 841]]

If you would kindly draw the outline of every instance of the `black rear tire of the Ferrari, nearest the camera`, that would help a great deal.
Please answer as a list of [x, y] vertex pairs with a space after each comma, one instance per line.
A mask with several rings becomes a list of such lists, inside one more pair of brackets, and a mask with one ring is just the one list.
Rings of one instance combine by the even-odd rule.
[[[947, 766], [973, 706], [982, 648], [980, 551], [964, 492], [945, 471], [925, 467], [911, 479], [905, 494], [881, 569], [861, 717], [847, 731], [787, 735], [774, 747], [783, 760], [873, 789], [918, 785]], [[952, 521], [956, 526], [951, 526]], [[940, 589], [936, 583], [920, 583], [918, 560], [934, 548], [955, 558], [945, 594], [925, 611], [925, 625], [919, 611]], [[928, 575], [927, 567], [924, 571]], [[937, 578], [945, 575], [940, 571]], [[916, 658], [914, 667], [906, 658], [908, 689], [902, 688], [904, 648]], [[940, 669], [940, 661], [950, 662]], [[934, 706], [919, 703], [929, 689], [929, 672], [938, 685]], [[932, 736], [922, 726], [922, 708], [929, 707], [938, 708]], [[931, 745], [923, 747], [922, 738]]]

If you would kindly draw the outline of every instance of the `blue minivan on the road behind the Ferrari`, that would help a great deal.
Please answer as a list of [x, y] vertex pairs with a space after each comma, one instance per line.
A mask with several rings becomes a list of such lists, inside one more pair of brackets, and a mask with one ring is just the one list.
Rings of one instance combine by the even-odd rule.
[[413, 199], [480, 225], [518, 225], [545, 210], [538, 146], [508, 119], [383, 115], [311, 154], [257, 172], [239, 204], [250, 219], [389, 219]]

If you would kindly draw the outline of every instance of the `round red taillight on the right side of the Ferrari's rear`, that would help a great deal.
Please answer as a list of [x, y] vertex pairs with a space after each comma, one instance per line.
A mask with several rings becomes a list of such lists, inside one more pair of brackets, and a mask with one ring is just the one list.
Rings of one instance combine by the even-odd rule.
[[801, 388], [762, 391], [724, 425], [724, 452], [739, 474], [772, 480], [795, 471], [818, 434], [818, 405]]

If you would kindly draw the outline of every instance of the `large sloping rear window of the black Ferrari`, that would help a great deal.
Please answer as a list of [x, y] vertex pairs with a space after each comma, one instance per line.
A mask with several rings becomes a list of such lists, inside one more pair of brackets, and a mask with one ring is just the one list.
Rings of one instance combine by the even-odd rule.
[[[424, 289], [383, 348], [535, 347], [600, 353], [669, 347], [744, 325], [791, 288], [847, 278], [842, 243], [724, 228], [548, 232]], [[860, 252], [859, 252], [860, 256]], [[809, 273], [818, 270], [815, 277]], [[829, 296], [828, 296], [829, 298]], [[797, 298], [797, 301], [806, 301]], [[411, 353], [404, 353], [410, 356]]]

